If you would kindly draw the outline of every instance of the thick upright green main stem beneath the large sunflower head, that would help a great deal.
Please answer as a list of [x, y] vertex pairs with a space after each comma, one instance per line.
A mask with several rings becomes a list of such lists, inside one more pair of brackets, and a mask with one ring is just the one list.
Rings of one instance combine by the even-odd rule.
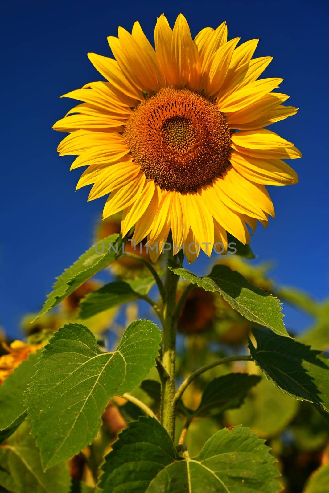
[[[172, 255], [172, 249], [170, 250]], [[169, 258], [172, 258], [169, 257]], [[165, 280], [165, 309], [162, 336], [162, 366], [165, 372], [161, 375], [161, 424], [169, 436], [175, 439], [175, 356], [176, 356], [176, 289], [178, 276], [167, 269]]]

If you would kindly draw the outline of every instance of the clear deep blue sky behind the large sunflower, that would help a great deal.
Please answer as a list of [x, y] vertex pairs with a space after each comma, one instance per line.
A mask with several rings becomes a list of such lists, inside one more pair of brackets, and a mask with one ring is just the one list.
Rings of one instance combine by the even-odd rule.
[[[276, 280], [307, 288], [317, 299], [329, 294], [328, 270], [328, 5], [326, 1], [16, 1], [1, 7], [1, 307], [0, 324], [10, 335], [19, 320], [37, 311], [54, 277], [90, 246], [104, 199], [87, 203], [74, 192], [80, 170], [58, 157], [61, 135], [52, 124], [72, 107], [59, 96], [100, 77], [87, 52], [110, 56], [108, 35], [135, 20], [151, 38], [156, 16], [172, 24], [179, 12], [192, 35], [228, 23], [229, 37], [259, 38], [256, 56], [274, 56], [265, 72], [284, 77], [281, 92], [298, 114], [275, 124], [304, 157], [293, 161], [300, 182], [269, 187], [276, 209], [252, 246], [257, 261], [275, 261]], [[205, 258], [196, 265], [201, 271]], [[305, 319], [288, 308], [286, 324]]]

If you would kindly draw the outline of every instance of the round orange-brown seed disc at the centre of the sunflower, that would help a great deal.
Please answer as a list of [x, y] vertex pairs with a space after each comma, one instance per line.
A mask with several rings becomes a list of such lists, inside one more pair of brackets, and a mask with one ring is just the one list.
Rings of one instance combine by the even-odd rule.
[[127, 120], [124, 137], [146, 179], [163, 190], [196, 191], [222, 175], [231, 133], [215, 102], [189, 89], [160, 89]]

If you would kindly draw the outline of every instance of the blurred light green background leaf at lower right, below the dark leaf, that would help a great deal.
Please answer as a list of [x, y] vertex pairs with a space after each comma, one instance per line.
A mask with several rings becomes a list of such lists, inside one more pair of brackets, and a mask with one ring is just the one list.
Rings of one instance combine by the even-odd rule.
[[225, 423], [248, 426], [262, 438], [280, 433], [295, 416], [299, 403], [262, 378], [239, 409], [225, 413]]

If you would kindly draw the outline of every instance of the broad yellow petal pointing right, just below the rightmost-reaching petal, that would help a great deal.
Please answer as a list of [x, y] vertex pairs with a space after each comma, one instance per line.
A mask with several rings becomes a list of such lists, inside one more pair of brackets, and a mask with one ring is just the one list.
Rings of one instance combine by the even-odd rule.
[[263, 185], [292, 185], [298, 182], [295, 171], [281, 159], [257, 159], [243, 156], [233, 150], [230, 155], [233, 168], [255, 183]]

